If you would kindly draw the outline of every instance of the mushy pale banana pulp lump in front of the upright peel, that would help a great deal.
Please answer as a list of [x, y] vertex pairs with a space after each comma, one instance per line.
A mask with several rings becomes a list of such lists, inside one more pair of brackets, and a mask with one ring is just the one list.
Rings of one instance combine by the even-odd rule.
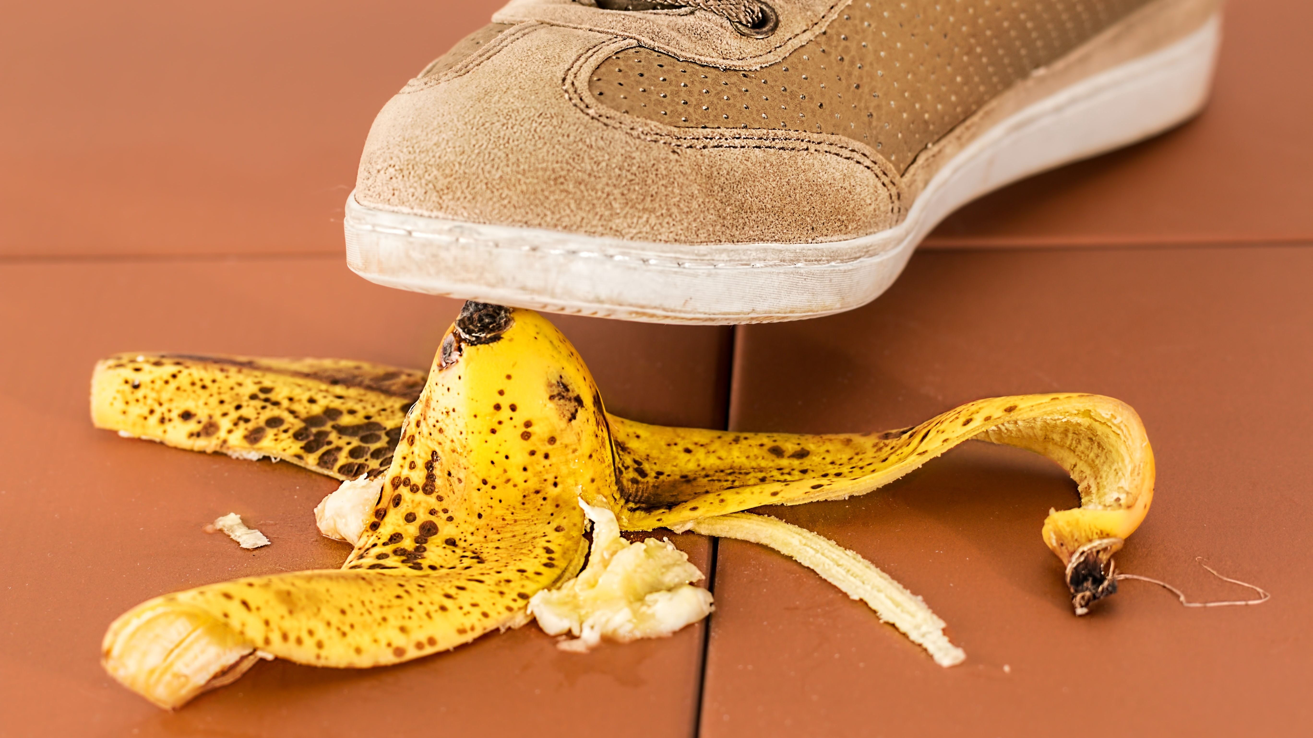
[[570, 633], [557, 647], [583, 653], [603, 638], [628, 642], [660, 638], [712, 613], [712, 594], [692, 586], [702, 573], [668, 540], [630, 544], [607, 508], [579, 502], [592, 521], [588, 566], [557, 590], [529, 600], [529, 612], [551, 636]]

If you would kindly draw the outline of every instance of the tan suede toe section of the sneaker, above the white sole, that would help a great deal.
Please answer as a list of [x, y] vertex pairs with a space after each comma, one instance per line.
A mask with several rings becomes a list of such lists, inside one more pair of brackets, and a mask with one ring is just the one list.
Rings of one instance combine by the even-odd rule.
[[431, 64], [374, 121], [357, 201], [668, 243], [806, 243], [897, 222], [895, 175], [839, 137], [678, 129], [595, 105], [588, 74], [624, 43], [521, 24]]

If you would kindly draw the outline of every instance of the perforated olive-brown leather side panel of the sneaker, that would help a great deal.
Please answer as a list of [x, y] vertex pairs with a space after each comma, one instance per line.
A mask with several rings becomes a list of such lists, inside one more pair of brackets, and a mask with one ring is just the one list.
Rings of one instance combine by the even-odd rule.
[[1149, 0], [855, 0], [755, 72], [626, 49], [596, 104], [672, 126], [789, 129], [860, 141], [905, 171], [991, 97]]

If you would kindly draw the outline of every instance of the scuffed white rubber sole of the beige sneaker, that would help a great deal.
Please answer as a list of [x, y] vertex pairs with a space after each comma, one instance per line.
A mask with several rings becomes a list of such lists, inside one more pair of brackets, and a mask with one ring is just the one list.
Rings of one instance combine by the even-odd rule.
[[898, 277], [961, 205], [1008, 183], [1158, 134], [1208, 98], [1215, 16], [1153, 54], [1006, 118], [949, 160], [897, 227], [811, 244], [645, 243], [488, 226], [347, 200], [347, 264], [372, 282], [481, 302], [658, 323], [765, 323], [851, 310]]

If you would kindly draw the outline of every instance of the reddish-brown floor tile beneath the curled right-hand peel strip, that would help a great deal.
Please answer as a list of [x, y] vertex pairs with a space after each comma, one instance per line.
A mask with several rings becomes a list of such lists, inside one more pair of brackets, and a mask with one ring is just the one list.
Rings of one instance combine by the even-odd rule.
[[1186, 609], [1123, 582], [1073, 616], [1039, 533], [1075, 486], [1028, 452], [968, 444], [864, 498], [772, 508], [926, 597], [968, 661], [940, 668], [793, 562], [721, 541], [701, 735], [1306, 730], [1310, 277], [1308, 246], [922, 252], [865, 309], [739, 328], [737, 429], [902, 428], [1002, 394], [1129, 402], [1158, 479], [1117, 563], [1197, 599], [1249, 596], [1201, 555], [1272, 599]]

